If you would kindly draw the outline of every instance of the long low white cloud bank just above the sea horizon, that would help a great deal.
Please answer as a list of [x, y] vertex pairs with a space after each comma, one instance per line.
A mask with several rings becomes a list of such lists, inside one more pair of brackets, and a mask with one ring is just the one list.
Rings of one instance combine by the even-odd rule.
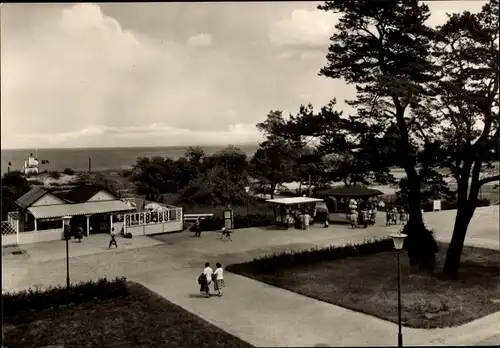
[[[234, 124], [218, 131], [196, 131], [174, 128], [161, 123], [143, 126], [110, 127], [89, 126], [64, 133], [27, 133], [15, 135], [11, 140], [14, 148], [58, 148], [58, 147], [104, 147], [119, 146], [188, 146], [227, 145], [257, 143], [262, 134], [254, 124]], [[3, 147], [3, 144], [2, 144]]]

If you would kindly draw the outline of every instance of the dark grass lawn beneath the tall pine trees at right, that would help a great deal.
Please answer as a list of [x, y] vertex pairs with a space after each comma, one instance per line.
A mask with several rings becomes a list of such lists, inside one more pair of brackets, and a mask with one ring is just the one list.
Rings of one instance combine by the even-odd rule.
[[[465, 247], [458, 280], [441, 273], [447, 244], [440, 244], [435, 274], [411, 274], [401, 255], [402, 321], [415, 328], [457, 326], [500, 310], [499, 252]], [[321, 301], [397, 323], [396, 252], [283, 269], [280, 274], [241, 275]]]

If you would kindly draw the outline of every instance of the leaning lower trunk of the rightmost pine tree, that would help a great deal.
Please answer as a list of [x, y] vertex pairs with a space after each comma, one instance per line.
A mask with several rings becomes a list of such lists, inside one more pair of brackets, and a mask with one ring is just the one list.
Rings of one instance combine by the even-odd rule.
[[446, 261], [443, 269], [443, 272], [452, 279], [456, 278], [464, 248], [465, 235], [467, 234], [467, 229], [475, 210], [469, 201], [459, 204], [455, 217], [455, 225], [453, 226], [453, 235], [446, 253]]

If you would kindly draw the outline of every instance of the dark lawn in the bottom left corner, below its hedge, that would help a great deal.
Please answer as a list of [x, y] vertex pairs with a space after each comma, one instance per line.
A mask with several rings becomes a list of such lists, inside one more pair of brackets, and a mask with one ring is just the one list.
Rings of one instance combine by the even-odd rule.
[[3, 318], [5, 347], [252, 347], [136, 283], [130, 295]]

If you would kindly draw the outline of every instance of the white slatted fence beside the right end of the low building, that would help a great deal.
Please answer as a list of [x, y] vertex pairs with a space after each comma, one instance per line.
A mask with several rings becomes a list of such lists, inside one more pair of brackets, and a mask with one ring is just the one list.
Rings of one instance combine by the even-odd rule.
[[124, 233], [150, 235], [182, 231], [182, 208], [125, 214]]

